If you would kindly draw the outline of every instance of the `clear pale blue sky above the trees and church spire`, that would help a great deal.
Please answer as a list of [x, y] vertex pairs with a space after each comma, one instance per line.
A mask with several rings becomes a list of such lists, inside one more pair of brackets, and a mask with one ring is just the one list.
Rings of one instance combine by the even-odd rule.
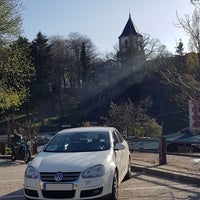
[[47, 37], [68, 37], [71, 32], [86, 35], [100, 53], [113, 51], [128, 20], [129, 11], [140, 33], [159, 39], [172, 53], [182, 38], [187, 51], [188, 37], [175, 27], [176, 12], [191, 15], [190, 0], [22, 0], [23, 35], [32, 41], [41, 31]]

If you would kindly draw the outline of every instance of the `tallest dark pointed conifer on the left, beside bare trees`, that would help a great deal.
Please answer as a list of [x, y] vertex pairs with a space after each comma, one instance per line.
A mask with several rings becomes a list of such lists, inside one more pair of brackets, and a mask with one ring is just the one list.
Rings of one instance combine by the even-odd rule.
[[41, 32], [32, 42], [32, 57], [36, 76], [32, 82], [32, 101], [40, 107], [40, 119], [44, 122], [46, 101], [49, 99], [52, 82], [51, 45]]

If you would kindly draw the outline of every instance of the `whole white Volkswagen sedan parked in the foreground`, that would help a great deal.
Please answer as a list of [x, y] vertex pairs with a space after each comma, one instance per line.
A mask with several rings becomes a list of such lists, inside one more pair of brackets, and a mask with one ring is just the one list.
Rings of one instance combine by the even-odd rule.
[[27, 166], [28, 199], [118, 199], [118, 184], [131, 173], [127, 142], [113, 127], [57, 133]]

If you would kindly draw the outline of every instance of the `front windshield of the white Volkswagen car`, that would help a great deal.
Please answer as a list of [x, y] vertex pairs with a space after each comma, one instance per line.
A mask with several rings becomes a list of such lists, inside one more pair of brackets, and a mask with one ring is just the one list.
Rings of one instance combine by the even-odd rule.
[[108, 132], [66, 132], [57, 134], [45, 152], [103, 151], [110, 148]]

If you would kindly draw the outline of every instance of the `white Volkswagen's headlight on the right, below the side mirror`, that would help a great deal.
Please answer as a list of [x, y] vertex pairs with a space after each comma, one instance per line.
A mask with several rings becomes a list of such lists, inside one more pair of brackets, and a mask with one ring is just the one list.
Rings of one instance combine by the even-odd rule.
[[86, 169], [82, 177], [83, 178], [96, 178], [105, 175], [105, 168], [103, 165], [95, 165], [93, 167], [90, 167]]

